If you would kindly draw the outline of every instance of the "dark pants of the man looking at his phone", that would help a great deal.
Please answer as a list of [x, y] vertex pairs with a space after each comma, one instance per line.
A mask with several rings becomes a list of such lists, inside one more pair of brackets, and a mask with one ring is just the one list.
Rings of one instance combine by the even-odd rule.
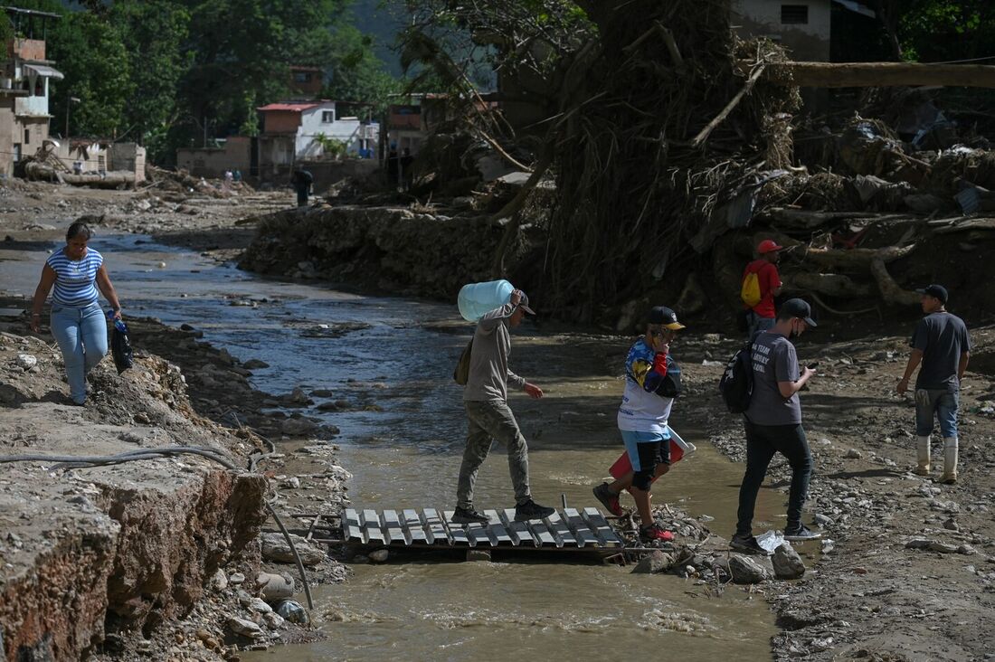
[[753, 509], [756, 495], [767, 475], [774, 453], [788, 458], [791, 465], [791, 488], [788, 492], [788, 526], [794, 529], [802, 522], [802, 506], [808, 496], [809, 479], [812, 477], [812, 453], [809, 452], [805, 430], [799, 425], [755, 425], [744, 421], [746, 427], [746, 473], [739, 486], [739, 510], [736, 534], [749, 536], [753, 530]]

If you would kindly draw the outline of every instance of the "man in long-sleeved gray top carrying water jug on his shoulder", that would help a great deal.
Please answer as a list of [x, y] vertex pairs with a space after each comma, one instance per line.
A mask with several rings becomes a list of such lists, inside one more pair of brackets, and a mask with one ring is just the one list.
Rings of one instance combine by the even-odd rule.
[[456, 524], [488, 523], [486, 515], [474, 510], [474, 484], [494, 440], [507, 447], [507, 465], [514, 487], [514, 520], [538, 520], [556, 512], [532, 501], [528, 487], [528, 447], [507, 406], [508, 384], [522, 389], [530, 397], [542, 397], [541, 388], [525, 381], [507, 366], [511, 352], [510, 330], [521, 324], [526, 313], [535, 315], [528, 307], [528, 297], [521, 290], [514, 290], [510, 301], [481, 318], [474, 332], [470, 374], [463, 391], [469, 432], [452, 520]]

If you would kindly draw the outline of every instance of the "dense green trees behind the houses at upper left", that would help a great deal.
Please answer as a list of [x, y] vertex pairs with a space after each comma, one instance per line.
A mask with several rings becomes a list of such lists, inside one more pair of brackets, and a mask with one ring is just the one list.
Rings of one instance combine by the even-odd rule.
[[[257, 108], [288, 99], [294, 65], [318, 67], [319, 97], [386, 110], [407, 82], [387, 73], [352, 0], [23, 0], [48, 24], [53, 133], [142, 142], [153, 162], [176, 147], [259, 133]], [[12, 34], [10, 25], [3, 28]], [[298, 94], [299, 96], [299, 94]]]

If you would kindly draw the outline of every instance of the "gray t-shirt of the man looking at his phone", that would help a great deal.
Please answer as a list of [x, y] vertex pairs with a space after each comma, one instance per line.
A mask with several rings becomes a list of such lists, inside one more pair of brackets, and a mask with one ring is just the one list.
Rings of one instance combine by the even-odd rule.
[[778, 381], [798, 381], [795, 345], [780, 333], [764, 331], [753, 340], [753, 395], [746, 418], [757, 425], [798, 425], [802, 405], [798, 393], [785, 399]]

